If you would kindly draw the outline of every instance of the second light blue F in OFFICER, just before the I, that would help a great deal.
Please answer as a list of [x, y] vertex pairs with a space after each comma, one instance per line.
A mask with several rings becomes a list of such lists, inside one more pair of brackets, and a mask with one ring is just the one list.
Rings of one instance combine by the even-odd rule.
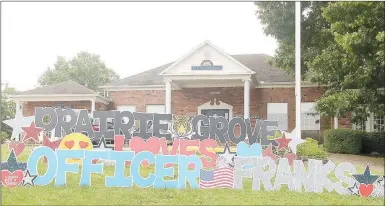
[[103, 174], [103, 164], [92, 164], [94, 159], [108, 159], [108, 150], [85, 150], [82, 174], [80, 177], [81, 186], [91, 186], [91, 173]]

